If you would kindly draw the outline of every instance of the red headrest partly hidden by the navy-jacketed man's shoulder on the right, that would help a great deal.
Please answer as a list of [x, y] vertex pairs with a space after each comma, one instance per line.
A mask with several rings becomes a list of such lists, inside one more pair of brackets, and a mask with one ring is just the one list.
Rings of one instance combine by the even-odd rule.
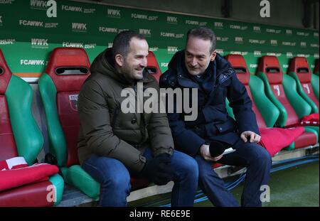
[[230, 65], [237, 73], [237, 77], [243, 85], [249, 85], [250, 72], [247, 70], [245, 58], [242, 55], [226, 55], [225, 60], [228, 60]]

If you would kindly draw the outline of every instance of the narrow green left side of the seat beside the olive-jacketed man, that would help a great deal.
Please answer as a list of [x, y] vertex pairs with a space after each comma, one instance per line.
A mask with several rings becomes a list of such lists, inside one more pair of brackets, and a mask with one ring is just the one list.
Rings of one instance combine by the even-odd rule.
[[60, 124], [57, 109], [57, 90], [46, 73], [41, 75], [39, 81], [39, 91], [43, 102], [44, 111], [46, 114], [46, 122], [48, 128], [49, 151], [57, 158], [58, 166], [65, 166], [67, 163], [67, 144], [65, 135]]

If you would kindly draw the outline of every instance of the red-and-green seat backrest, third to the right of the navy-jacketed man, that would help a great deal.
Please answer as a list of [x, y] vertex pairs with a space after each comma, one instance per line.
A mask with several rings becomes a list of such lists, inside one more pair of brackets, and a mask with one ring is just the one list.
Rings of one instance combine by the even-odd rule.
[[311, 70], [306, 58], [292, 58], [288, 68], [288, 74], [297, 81], [298, 92], [300, 93], [300, 95], [302, 95], [303, 97], [305, 95], [309, 97], [309, 99], [306, 98], [306, 102], [308, 102], [311, 107], [315, 106], [313, 107], [313, 112], [318, 112], [319, 100], [316, 98], [313, 87], [311, 85]]

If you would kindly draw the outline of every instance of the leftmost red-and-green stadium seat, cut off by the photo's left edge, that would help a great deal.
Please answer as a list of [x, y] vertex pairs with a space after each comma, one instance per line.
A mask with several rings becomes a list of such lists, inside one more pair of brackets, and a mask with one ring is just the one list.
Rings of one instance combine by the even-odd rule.
[[[31, 113], [32, 95], [31, 86], [12, 75], [0, 50], [0, 161], [20, 156], [30, 166], [43, 147], [43, 136]], [[47, 200], [50, 185], [55, 187], [55, 202]], [[55, 174], [49, 180], [2, 190], [0, 207], [57, 205], [63, 186], [63, 178]]]

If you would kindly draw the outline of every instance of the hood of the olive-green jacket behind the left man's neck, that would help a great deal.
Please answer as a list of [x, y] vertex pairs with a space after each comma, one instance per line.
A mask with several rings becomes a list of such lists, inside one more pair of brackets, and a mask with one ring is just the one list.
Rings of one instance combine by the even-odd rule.
[[[95, 60], [93, 60], [92, 65], [90, 67], [90, 72], [94, 75], [95, 72], [99, 72], [102, 75], [107, 75], [112, 77], [114, 80], [121, 82], [124, 85], [132, 85], [135, 80], [129, 80], [122, 73], [119, 73], [116, 68], [114, 68], [114, 61], [112, 59], [112, 50], [111, 48], [107, 48], [102, 51]], [[146, 68], [143, 72], [144, 78], [139, 80], [139, 82], [149, 82], [149, 73], [146, 71]]]

